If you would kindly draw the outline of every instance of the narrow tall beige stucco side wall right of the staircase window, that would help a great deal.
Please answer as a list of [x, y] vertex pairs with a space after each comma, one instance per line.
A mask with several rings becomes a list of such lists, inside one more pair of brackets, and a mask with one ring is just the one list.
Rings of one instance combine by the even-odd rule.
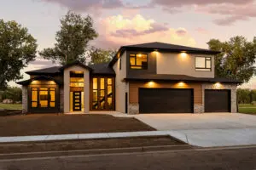
[[126, 52], [120, 56], [121, 70], [119, 70], [120, 59], [113, 65], [115, 71], [115, 110], [125, 113], [125, 92], [128, 91], [127, 82], [123, 82], [126, 77]]

